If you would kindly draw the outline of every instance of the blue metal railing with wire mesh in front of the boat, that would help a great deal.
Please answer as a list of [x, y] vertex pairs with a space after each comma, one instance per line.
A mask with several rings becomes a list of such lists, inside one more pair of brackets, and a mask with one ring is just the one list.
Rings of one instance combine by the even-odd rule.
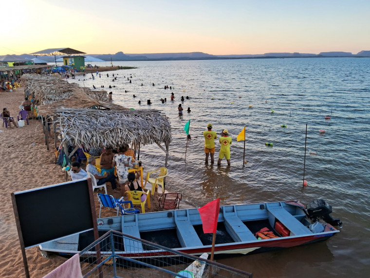
[[[143, 250], [124, 254], [124, 250]], [[98, 256], [97, 256], [98, 254]], [[79, 253], [84, 277], [239, 278], [247, 273], [214, 261], [188, 255], [144, 239], [109, 231]], [[190, 265], [190, 266], [189, 266]], [[186, 270], [185, 270], [186, 269]], [[196, 273], [203, 269], [203, 276]]]

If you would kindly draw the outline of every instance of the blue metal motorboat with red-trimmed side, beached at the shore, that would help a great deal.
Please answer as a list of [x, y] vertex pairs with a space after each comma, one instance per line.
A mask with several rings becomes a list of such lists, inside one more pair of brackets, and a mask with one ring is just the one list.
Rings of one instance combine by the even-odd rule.
[[[313, 232], [309, 229], [309, 220], [301, 204], [294, 201], [222, 206], [217, 226], [215, 258], [250, 255], [311, 244], [327, 240], [339, 232], [328, 223], [320, 224], [322, 231]], [[277, 222], [284, 224], [287, 230], [289, 227], [289, 236], [282, 237], [277, 233], [274, 229]], [[203, 234], [197, 209], [99, 218], [98, 227], [100, 233], [116, 230], [124, 234], [120, 238], [122, 248], [115, 250], [115, 254], [127, 258], [169, 256], [166, 250], [145, 247], [152, 242], [158, 244], [157, 246], [195, 256], [210, 253], [212, 247], [209, 241], [212, 234]], [[256, 238], [255, 233], [261, 227], [268, 227], [278, 237]], [[82, 242], [81, 238], [84, 237], [87, 243]], [[138, 248], [132, 248], [129, 240], [140, 240], [141, 243]], [[74, 235], [64, 238], [64, 241], [68, 243], [69, 250], [64, 247], [67, 245], [63, 245], [61, 239], [41, 244], [40, 249], [44, 252], [73, 256], [93, 241], [92, 232], [90, 236]], [[80, 249], [73, 247], [71, 242], [75, 242]], [[101, 253], [110, 252], [101, 250]], [[89, 256], [93, 255], [89, 253]]]

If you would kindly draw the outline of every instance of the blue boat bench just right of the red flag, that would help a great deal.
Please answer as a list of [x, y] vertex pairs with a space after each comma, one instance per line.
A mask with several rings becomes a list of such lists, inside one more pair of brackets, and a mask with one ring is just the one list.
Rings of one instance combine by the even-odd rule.
[[224, 216], [224, 219], [226, 231], [230, 234], [235, 242], [251, 241], [257, 239], [237, 216]]

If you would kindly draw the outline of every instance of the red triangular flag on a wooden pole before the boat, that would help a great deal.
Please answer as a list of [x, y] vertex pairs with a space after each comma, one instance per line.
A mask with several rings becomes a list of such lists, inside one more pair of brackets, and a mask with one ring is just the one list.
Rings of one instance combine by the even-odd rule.
[[210, 201], [198, 209], [203, 223], [203, 233], [216, 233], [220, 212], [220, 199]]

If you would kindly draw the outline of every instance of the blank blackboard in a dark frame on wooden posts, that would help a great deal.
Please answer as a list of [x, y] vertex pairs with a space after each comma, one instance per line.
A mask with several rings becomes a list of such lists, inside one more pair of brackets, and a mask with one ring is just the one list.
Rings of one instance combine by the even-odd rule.
[[25, 248], [93, 229], [87, 179], [16, 192], [14, 197]]

